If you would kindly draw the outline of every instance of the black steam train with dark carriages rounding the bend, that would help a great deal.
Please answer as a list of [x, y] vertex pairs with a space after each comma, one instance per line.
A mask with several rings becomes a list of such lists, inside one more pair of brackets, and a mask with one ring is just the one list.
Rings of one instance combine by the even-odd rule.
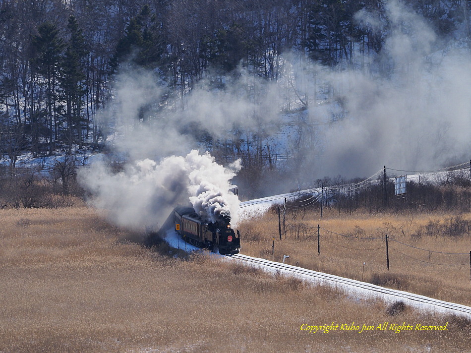
[[209, 249], [223, 255], [237, 254], [240, 250], [240, 234], [235, 236], [230, 219], [218, 223], [201, 220], [191, 207], [177, 207], [174, 210], [174, 225], [181, 237], [195, 246]]

